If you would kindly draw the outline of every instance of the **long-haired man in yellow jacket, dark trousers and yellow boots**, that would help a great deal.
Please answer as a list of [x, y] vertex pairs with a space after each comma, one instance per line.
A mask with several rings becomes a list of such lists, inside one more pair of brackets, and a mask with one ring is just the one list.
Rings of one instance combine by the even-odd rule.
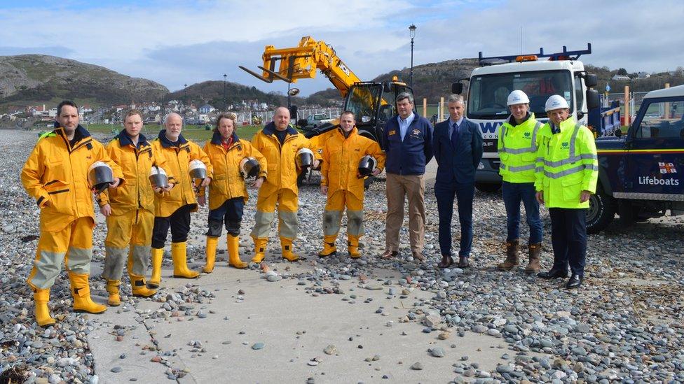
[[[216, 248], [221, 236], [221, 227], [226, 225], [226, 245], [228, 264], [235, 268], [245, 268], [239, 255], [240, 223], [245, 203], [249, 199], [245, 177], [240, 173], [240, 163], [245, 157], [254, 157], [259, 162], [259, 174], [254, 187], [260, 187], [266, 178], [266, 158], [252, 147], [252, 143], [238, 138], [235, 133], [237, 117], [234, 113], [221, 113], [216, 120], [214, 136], [204, 145], [214, 177], [209, 185], [209, 231], [207, 232], [207, 264], [204, 272], [214, 270]], [[199, 201], [204, 204], [204, 191], [200, 191]]]

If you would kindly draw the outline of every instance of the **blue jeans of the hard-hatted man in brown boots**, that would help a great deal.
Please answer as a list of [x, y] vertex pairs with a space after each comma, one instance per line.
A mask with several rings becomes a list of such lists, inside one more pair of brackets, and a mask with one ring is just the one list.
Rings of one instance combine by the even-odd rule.
[[503, 182], [501, 195], [506, 206], [506, 225], [508, 237], [506, 241], [514, 241], [520, 237], [520, 202], [525, 205], [527, 225], [530, 227], [528, 244], [542, 242], [542, 219], [539, 217], [539, 203], [535, 197], [534, 183]]

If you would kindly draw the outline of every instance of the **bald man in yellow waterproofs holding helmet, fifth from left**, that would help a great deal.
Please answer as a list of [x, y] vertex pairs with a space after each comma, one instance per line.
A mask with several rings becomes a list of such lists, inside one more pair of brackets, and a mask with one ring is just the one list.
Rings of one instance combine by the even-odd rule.
[[[289, 110], [285, 107], [278, 107], [273, 121], [252, 138], [252, 146], [266, 157], [266, 173], [268, 173], [264, 184], [259, 188], [257, 213], [254, 216], [254, 228], [251, 234], [254, 239], [252, 261], [257, 263], [264, 259], [266, 253], [268, 232], [275, 217], [276, 203], [278, 203], [278, 232], [282, 257], [290, 262], [299, 259], [299, 256], [292, 252], [292, 241], [296, 239], [299, 226], [297, 219], [299, 207], [297, 173], [299, 171], [295, 164], [295, 157], [301, 148], [313, 148], [308, 138], [290, 127], [289, 120]], [[318, 160], [315, 161], [314, 168], [317, 162]]]

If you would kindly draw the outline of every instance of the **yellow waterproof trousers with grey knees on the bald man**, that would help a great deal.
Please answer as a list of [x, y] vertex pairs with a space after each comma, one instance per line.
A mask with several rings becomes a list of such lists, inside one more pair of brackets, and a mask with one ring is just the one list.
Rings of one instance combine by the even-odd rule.
[[259, 194], [257, 198], [257, 214], [254, 215], [254, 229], [252, 238], [268, 239], [271, 223], [275, 218], [275, 204], [278, 204], [278, 233], [280, 237], [293, 241], [297, 237], [297, 208], [299, 197], [293, 190], [282, 188], [273, 194], [264, 196]]

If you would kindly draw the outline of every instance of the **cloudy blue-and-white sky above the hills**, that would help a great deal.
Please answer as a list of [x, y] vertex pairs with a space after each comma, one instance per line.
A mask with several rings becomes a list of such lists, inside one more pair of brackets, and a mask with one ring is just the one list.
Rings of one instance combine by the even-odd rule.
[[[671, 1], [7, 1], [0, 0], [0, 55], [39, 53], [149, 78], [175, 91], [223, 80], [287, 90], [238, 69], [261, 65], [265, 45], [301, 36], [334, 47], [362, 80], [413, 63], [584, 49], [584, 62], [610, 69], [684, 66], [684, 3]], [[300, 80], [306, 96], [330, 87]]]

